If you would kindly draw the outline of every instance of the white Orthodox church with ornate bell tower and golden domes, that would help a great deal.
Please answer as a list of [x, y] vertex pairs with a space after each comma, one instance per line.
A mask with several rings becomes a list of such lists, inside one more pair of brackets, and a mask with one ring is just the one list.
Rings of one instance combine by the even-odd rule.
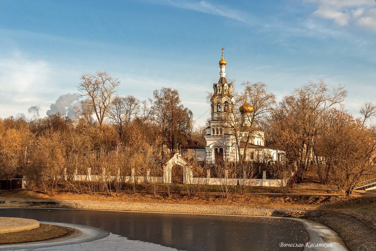
[[[206, 128], [205, 148], [195, 148], [196, 160], [213, 163], [216, 161], [238, 161], [238, 147], [241, 154], [244, 152], [244, 142], [250, 131], [253, 107], [245, 101], [239, 108], [234, 107], [235, 99], [232, 96], [232, 83], [226, 79], [226, 60], [219, 61], [220, 79], [213, 84], [214, 93], [211, 97], [211, 120]], [[235, 121], [233, 109], [239, 109], [241, 121]], [[233, 125], [237, 125], [238, 142], [234, 135]], [[247, 161], [273, 163], [284, 159], [284, 152], [265, 146], [265, 133], [253, 130], [250, 135], [246, 153]], [[243, 144], [243, 145], [242, 145]], [[238, 146], [239, 145], [239, 146]], [[241, 156], [242, 157], [242, 156]]]

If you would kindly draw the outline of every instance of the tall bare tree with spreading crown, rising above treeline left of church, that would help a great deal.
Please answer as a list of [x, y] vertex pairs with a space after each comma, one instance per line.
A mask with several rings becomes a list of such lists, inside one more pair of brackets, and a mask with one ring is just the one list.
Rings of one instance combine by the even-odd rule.
[[97, 71], [96, 74], [83, 73], [80, 79], [80, 85], [77, 87], [81, 93], [80, 96], [87, 96], [90, 100], [90, 102], [82, 105], [86, 105], [94, 112], [99, 126], [102, 126], [106, 110], [116, 91], [115, 88], [120, 84], [120, 80], [112, 78], [105, 71]]

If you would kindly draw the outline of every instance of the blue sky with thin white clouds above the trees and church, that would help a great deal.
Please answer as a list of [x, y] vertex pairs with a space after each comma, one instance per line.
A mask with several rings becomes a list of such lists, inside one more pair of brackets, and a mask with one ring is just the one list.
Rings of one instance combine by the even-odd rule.
[[[309, 80], [345, 85], [355, 116], [376, 93], [376, 3], [285, 1], [1, 1], [0, 117], [45, 116], [83, 72], [121, 79], [120, 95], [176, 88], [197, 119], [226, 77], [262, 81], [280, 100]], [[197, 120], [203, 125], [209, 114]]]

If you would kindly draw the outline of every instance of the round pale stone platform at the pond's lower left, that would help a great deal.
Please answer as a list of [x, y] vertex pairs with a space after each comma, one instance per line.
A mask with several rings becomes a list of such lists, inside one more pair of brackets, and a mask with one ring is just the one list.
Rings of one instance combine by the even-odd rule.
[[39, 227], [39, 221], [24, 218], [0, 217], [0, 234], [21, 232]]

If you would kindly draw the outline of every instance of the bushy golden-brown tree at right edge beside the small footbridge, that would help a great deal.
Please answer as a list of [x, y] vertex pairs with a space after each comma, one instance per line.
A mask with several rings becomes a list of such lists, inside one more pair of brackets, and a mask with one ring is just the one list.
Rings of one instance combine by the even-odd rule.
[[361, 179], [376, 172], [376, 132], [337, 109], [328, 110], [322, 123], [315, 146], [317, 154], [324, 157], [324, 163], [317, 162], [318, 175], [323, 183], [350, 195]]

